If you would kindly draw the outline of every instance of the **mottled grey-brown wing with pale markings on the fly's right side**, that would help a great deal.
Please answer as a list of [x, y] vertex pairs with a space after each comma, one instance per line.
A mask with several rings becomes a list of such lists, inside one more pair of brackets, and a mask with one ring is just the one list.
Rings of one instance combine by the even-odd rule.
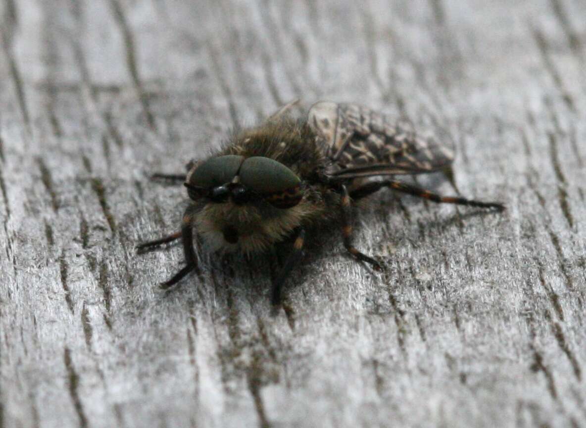
[[421, 174], [445, 168], [454, 159], [449, 145], [415, 133], [409, 121], [391, 122], [357, 104], [320, 101], [309, 109], [308, 122], [333, 161], [331, 176]]

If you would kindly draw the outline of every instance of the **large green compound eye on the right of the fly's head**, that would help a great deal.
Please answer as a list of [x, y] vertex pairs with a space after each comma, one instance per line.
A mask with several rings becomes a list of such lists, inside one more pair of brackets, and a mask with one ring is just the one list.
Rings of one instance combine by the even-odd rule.
[[274, 159], [255, 156], [240, 167], [240, 182], [262, 195], [275, 208], [291, 208], [302, 198], [301, 180], [291, 169]]

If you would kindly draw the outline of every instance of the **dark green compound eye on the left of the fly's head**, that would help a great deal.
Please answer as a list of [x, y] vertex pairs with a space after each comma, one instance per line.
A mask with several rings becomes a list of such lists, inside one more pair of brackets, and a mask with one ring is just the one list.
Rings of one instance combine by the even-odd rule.
[[224, 185], [234, 179], [243, 161], [244, 158], [241, 156], [224, 155], [197, 164], [188, 174], [189, 181], [185, 185], [189, 197], [196, 200], [202, 196], [210, 196], [214, 202], [223, 202], [220, 199], [223, 198], [224, 191], [219, 188], [224, 188], [227, 192]]

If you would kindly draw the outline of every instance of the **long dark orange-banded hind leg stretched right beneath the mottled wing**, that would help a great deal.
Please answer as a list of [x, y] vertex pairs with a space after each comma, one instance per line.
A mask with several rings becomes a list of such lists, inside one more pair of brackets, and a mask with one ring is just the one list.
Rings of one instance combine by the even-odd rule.
[[428, 199], [429, 201], [437, 203], [454, 203], [456, 205], [476, 206], [479, 208], [494, 208], [498, 211], [505, 209], [505, 205], [499, 202], [474, 201], [473, 199], [460, 198], [459, 196], [441, 196], [418, 186], [395, 180], [372, 181], [366, 183], [363, 186], [354, 189], [352, 193], [350, 193], [350, 196], [352, 196], [353, 199], [364, 198], [365, 196], [369, 196], [372, 193], [379, 191], [383, 187], [388, 187], [398, 192], [408, 193], [409, 195], [418, 196], [419, 198]]

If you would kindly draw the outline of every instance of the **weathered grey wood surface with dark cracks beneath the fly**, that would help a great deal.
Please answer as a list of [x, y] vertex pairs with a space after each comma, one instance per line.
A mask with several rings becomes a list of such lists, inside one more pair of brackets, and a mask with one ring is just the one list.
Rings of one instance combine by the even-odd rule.
[[[586, 426], [586, 8], [448, 2], [4, 0], [0, 427]], [[388, 191], [310, 252], [156, 284], [185, 195], [152, 184], [301, 97], [439, 124], [444, 193]]]

